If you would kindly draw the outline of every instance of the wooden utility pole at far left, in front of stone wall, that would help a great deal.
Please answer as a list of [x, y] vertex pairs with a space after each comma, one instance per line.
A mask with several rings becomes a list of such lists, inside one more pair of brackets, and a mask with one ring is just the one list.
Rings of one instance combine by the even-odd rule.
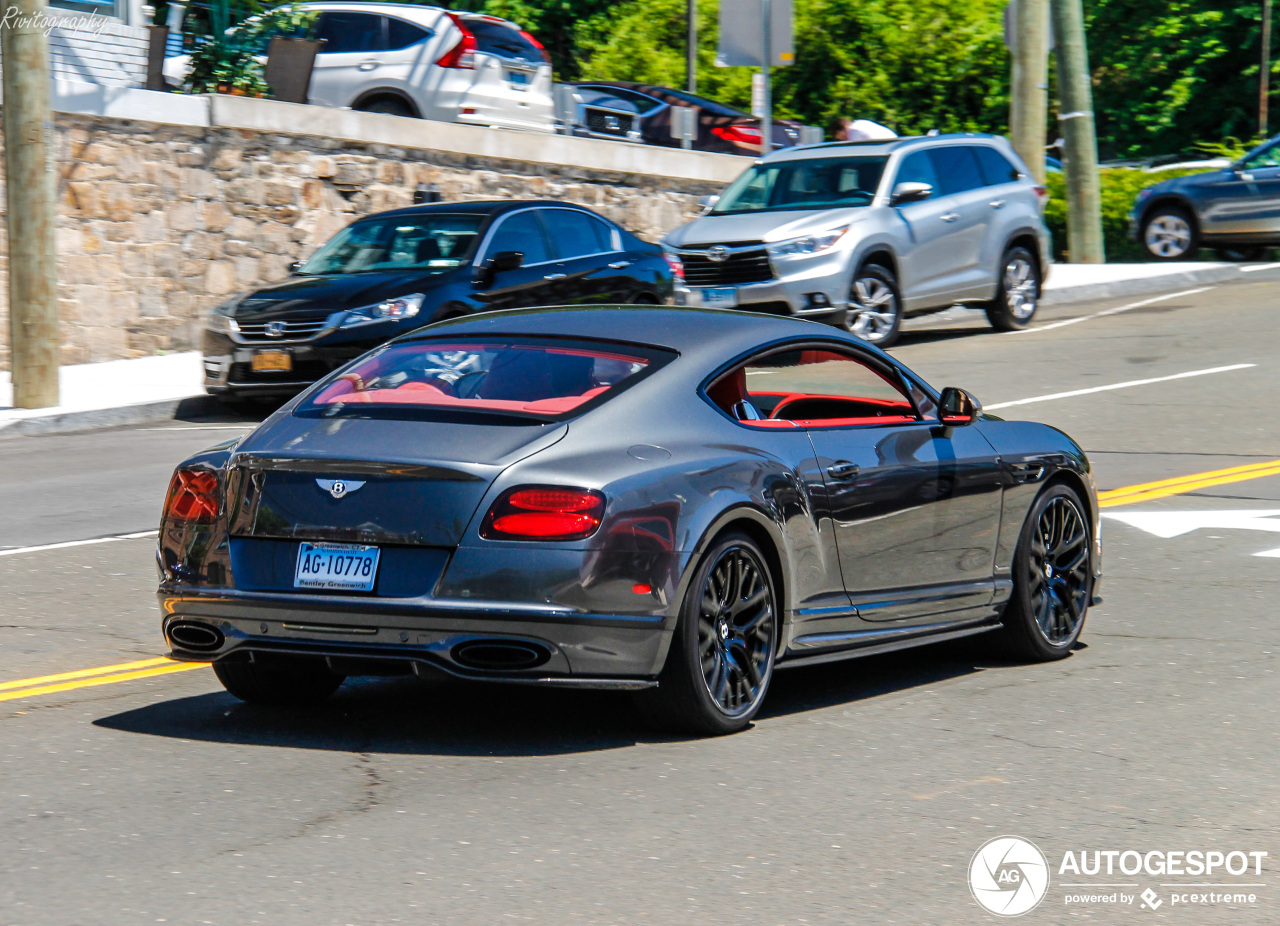
[[58, 405], [54, 123], [45, 0], [8, 0], [0, 24], [9, 219], [9, 357], [18, 409]]

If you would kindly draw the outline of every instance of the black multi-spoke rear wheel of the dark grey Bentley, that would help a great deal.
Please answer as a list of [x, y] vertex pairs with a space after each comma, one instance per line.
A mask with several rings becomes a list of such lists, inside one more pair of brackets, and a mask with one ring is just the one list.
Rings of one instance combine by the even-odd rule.
[[640, 692], [659, 729], [736, 733], [760, 710], [778, 648], [778, 607], [764, 553], [744, 534], [721, 538], [685, 593], [658, 686]]

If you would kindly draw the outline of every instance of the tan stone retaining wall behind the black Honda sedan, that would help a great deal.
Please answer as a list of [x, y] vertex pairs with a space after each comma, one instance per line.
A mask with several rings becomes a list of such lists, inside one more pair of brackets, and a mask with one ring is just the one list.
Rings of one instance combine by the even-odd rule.
[[[209, 307], [284, 279], [289, 263], [352, 219], [410, 205], [420, 183], [445, 200], [577, 202], [650, 241], [721, 186], [64, 113], [56, 138], [64, 364], [198, 347]], [[0, 223], [0, 255], [4, 234]], [[0, 256], [0, 369], [9, 364], [6, 277]]]

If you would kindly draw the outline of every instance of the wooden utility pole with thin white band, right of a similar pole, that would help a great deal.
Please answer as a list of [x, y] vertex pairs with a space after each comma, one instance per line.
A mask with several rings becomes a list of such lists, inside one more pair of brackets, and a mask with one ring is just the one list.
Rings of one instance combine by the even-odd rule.
[[1101, 264], [1102, 190], [1098, 137], [1093, 120], [1093, 87], [1084, 44], [1082, 0], [1052, 0], [1057, 37], [1059, 119], [1066, 143], [1066, 250], [1073, 264]]

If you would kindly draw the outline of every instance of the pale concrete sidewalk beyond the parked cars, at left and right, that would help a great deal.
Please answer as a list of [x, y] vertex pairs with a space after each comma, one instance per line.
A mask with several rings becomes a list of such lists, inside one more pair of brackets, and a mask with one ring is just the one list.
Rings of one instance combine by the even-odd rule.
[[[1056, 264], [1041, 304], [1175, 292], [1247, 279], [1247, 274], [1267, 269], [1280, 269], [1280, 264]], [[13, 409], [9, 374], [0, 373], [0, 439], [155, 421], [173, 418], [183, 401], [205, 396], [198, 351], [64, 366], [60, 383], [63, 403], [58, 407]]]

